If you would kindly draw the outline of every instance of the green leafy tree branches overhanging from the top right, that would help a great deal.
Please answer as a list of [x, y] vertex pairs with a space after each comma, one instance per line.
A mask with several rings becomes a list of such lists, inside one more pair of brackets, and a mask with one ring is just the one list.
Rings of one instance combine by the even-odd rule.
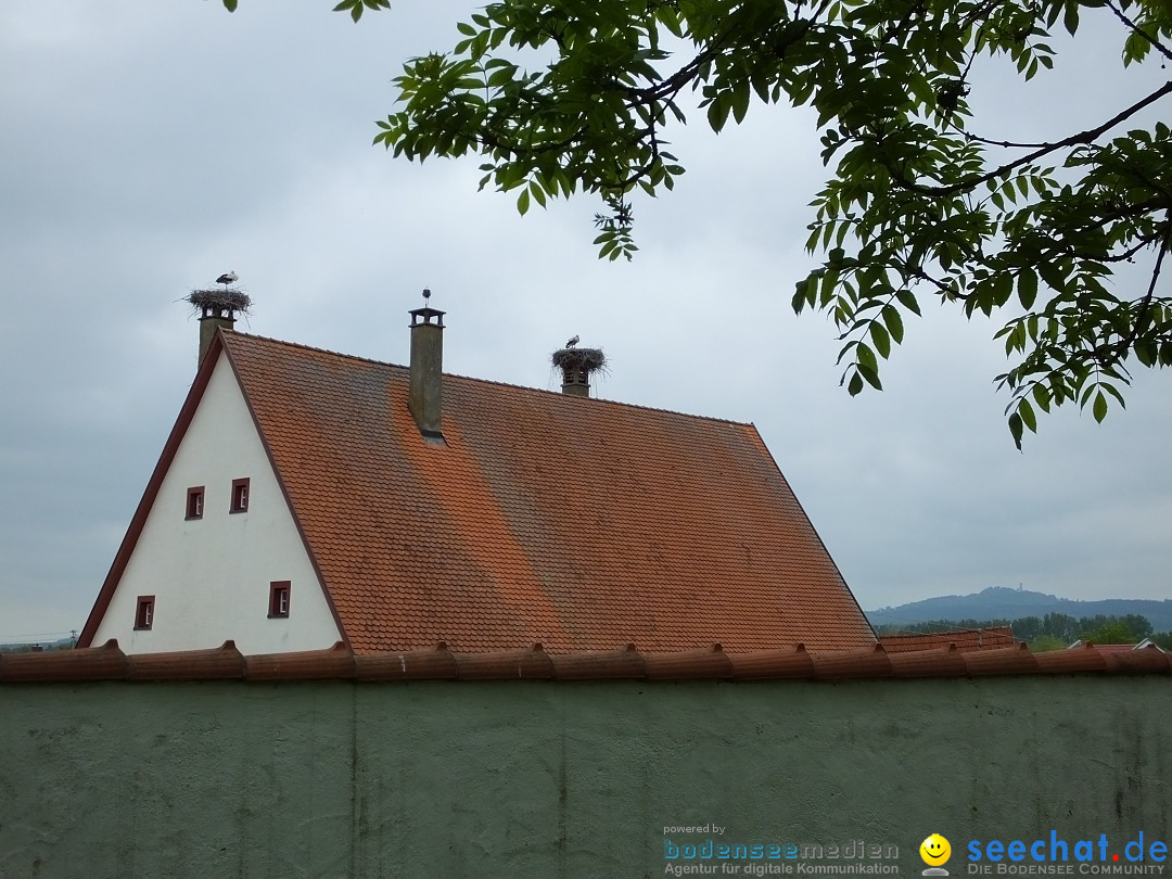
[[[482, 188], [516, 192], [522, 213], [593, 193], [600, 255], [629, 259], [632, 197], [683, 173], [668, 135], [689, 94], [717, 132], [755, 104], [813, 108], [831, 178], [795, 309], [832, 316], [852, 395], [881, 388], [925, 301], [1010, 315], [996, 381], [1020, 448], [1038, 411], [1075, 402], [1102, 421], [1130, 368], [1172, 363], [1172, 137], [1140, 122], [1172, 82], [1044, 142], [993, 136], [969, 104], [974, 66], [1030, 80], [1057, 33], [1115, 26], [1124, 68], [1172, 59], [1170, 0], [499, 0], [450, 52], [404, 66], [375, 142], [421, 162], [479, 154]], [[1144, 280], [1112, 289], [1131, 263]]]

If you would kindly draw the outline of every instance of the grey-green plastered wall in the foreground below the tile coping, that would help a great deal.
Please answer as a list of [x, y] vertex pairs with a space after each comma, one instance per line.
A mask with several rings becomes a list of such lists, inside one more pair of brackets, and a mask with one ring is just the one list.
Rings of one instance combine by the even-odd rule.
[[657, 877], [709, 823], [960, 875], [1172, 841], [1170, 717], [1166, 676], [0, 686], [0, 875]]

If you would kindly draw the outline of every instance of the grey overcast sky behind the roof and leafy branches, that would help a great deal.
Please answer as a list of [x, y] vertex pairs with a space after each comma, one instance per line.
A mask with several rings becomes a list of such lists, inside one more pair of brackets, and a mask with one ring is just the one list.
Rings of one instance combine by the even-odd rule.
[[[883, 394], [838, 387], [832, 325], [789, 307], [825, 179], [808, 115], [680, 132], [688, 173], [636, 202], [640, 254], [599, 263], [590, 199], [522, 218], [477, 193], [475, 158], [372, 146], [402, 61], [471, 6], [354, 25], [332, 5], [0, 7], [0, 642], [83, 625], [193, 377], [178, 300], [230, 268], [245, 332], [403, 363], [430, 286], [447, 372], [554, 389], [578, 333], [609, 357], [601, 396], [754, 422], [864, 608], [1018, 584], [1172, 597], [1167, 374], [1102, 427], [1043, 418], [1020, 454], [999, 325], [927, 304]], [[989, 74], [981, 134], [1097, 123], [1117, 68], [1065, 53], [1068, 90], [1026, 97]]]

